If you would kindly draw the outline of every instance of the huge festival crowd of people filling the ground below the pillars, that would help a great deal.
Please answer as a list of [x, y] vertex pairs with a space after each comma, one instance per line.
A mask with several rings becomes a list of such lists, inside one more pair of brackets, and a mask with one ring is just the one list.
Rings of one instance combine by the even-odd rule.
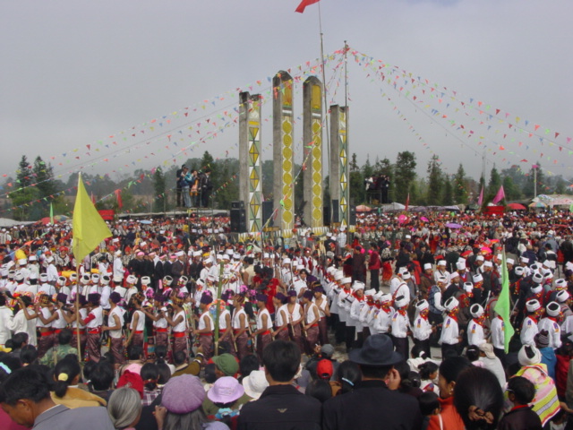
[[570, 428], [569, 225], [371, 214], [237, 242], [225, 218], [132, 219], [82, 261], [68, 225], [3, 229], [0, 423]]

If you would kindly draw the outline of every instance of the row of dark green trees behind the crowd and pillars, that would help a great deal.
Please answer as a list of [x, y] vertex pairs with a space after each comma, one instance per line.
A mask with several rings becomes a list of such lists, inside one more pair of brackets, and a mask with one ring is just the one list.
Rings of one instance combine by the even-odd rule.
[[[185, 164], [199, 171], [210, 168], [214, 185], [213, 206], [227, 209], [230, 203], [239, 200], [239, 160], [213, 159], [209, 151], [205, 151], [201, 159], [188, 159]], [[539, 163], [537, 163], [539, 166]], [[180, 166], [170, 168], [153, 168], [151, 170], [136, 169], [132, 175], [116, 174], [115, 179], [110, 175], [90, 175], [82, 173], [82, 178], [88, 193], [93, 195], [98, 209], [114, 209], [115, 211], [170, 211], [175, 206], [175, 177]], [[460, 163], [455, 174], [443, 171], [440, 159], [432, 156], [426, 168], [425, 177], [416, 174], [417, 161], [415, 153], [403, 151], [398, 153], [394, 163], [388, 158], [376, 158], [372, 164], [368, 157], [359, 166], [356, 155], [352, 155], [349, 163], [349, 182], [351, 201], [355, 204], [377, 203], [380, 194], [367, 193], [364, 180], [371, 176], [386, 175], [390, 178], [389, 200], [405, 203], [409, 197], [411, 205], [451, 205], [458, 203], [473, 203], [477, 201], [480, 190], [484, 189], [484, 201], [489, 202], [503, 185], [506, 199], [518, 201], [531, 198], [535, 192], [533, 169], [524, 174], [517, 166], [501, 171], [494, 166], [490, 171], [488, 181], [482, 176], [479, 181], [466, 176], [466, 171]], [[273, 160], [263, 161], [261, 166], [261, 185], [263, 197], [273, 199]], [[300, 166], [295, 166], [295, 172]], [[325, 172], [326, 173], [326, 172]], [[562, 176], [545, 176], [543, 170], [537, 168], [537, 193], [569, 193], [569, 187]], [[4, 202], [4, 212], [1, 216], [21, 220], [37, 220], [49, 214], [50, 203], [54, 213], [70, 215], [73, 211], [73, 196], [76, 193], [78, 174], [70, 175], [66, 182], [54, 176], [51, 164], [41, 157], [36, 157], [30, 163], [24, 155], [19, 163], [16, 177], [8, 177], [3, 189], [8, 191], [8, 200]], [[12, 186], [9, 186], [12, 185]], [[123, 207], [118, 207], [115, 190], [121, 190]], [[304, 179], [298, 176], [295, 184], [295, 210], [300, 213], [304, 206]], [[329, 177], [324, 184], [325, 202], [329, 201]], [[278, 196], [280, 199], [281, 196]]]

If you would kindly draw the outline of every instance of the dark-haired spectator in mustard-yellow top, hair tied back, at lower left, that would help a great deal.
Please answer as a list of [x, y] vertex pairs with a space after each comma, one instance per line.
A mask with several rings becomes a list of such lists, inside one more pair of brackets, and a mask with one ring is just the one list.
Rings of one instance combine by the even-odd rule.
[[67, 356], [60, 360], [54, 370], [56, 383], [52, 392], [52, 400], [57, 405], [64, 405], [70, 409], [84, 406], [106, 406], [106, 400], [77, 387], [80, 382], [80, 372], [77, 357]]

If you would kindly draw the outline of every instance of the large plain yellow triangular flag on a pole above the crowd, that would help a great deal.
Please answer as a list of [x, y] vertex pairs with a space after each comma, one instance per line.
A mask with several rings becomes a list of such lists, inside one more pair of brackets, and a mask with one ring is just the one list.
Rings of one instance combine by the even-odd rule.
[[73, 206], [73, 256], [80, 264], [106, 237], [111, 237], [106, 221], [90, 201], [90, 196], [83, 186], [81, 174], [78, 176], [78, 193]]

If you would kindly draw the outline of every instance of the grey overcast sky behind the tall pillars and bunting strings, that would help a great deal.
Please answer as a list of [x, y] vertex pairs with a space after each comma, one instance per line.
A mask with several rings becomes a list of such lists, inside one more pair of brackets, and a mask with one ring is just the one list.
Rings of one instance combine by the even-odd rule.
[[[271, 158], [268, 78], [293, 68], [304, 80], [306, 62], [320, 56], [319, 7], [295, 13], [298, 2], [4, 2], [0, 171], [13, 175], [22, 154], [41, 155], [62, 176], [119, 175], [204, 150], [238, 157], [233, 107], [250, 84], [266, 100], [261, 139]], [[423, 176], [436, 153], [448, 173], [462, 162], [479, 176], [484, 154], [487, 175], [494, 162], [528, 169], [541, 160], [572, 177], [571, 16], [570, 0], [321, 0], [325, 54], [346, 39], [385, 73], [382, 82], [348, 57], [350, 152], [363, 163], [412, 150]], [[328, 102], [344, 105], [339, 59], [327, 62]], [[296, 90], [300, 105], [302, 84]], [[300, 162], [300, 124], [295, 133]]]

